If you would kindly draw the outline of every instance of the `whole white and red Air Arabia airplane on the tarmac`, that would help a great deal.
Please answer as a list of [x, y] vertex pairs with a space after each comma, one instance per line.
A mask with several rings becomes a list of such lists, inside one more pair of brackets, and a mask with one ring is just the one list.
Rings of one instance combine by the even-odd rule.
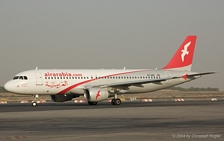
[[12, 93], [49, 95], [54, 102], [84, 96], [89, 105], [111, 99], [120, 105], [120, 94], [139, 94], [183, 84], [215, 72], [191, 71], [196, 36], [187, 36], [168, 64], [161, 69], [34, 69], [15, 75], [4, 88]]

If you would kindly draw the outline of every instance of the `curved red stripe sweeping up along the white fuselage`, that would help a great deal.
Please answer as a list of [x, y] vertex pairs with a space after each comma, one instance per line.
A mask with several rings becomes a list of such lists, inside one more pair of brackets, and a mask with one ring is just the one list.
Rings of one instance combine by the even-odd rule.
[[70, 91], [71, 89], [74, 89], [82, 84], [85, 84], [85, 83], [88, 83], [88, 82], [91, 82], [91, 81], [94, 81], [94, 80], [98, 80], [102, 77], [110, 77], [110, 76], [117, 76], [117, 75], [122, 75], [122, 74], [129, 74], [129, 73], [134, 73], [134, 72], [143, 72], [143, 71], [148, 71], [148, 70], [137, 70], [137, 71], [131, 71], [131, 72], [122, 72], [122, 73], [118, 73], [118, 74], [110, 74], [110, 75], [106, 75], [106, 76], [100, 76], [99, 78], [94, 78], [94, 79], [90, 79], [90, 80], [86, 80], [86, 81], [82, 81], [82, 82], [79, 82], [77, 84], [74, 84], [72, 86], [69, 86], [67, 87], [66, 89], [60, 91], [58, 94], [65, 94], [66, 92]]

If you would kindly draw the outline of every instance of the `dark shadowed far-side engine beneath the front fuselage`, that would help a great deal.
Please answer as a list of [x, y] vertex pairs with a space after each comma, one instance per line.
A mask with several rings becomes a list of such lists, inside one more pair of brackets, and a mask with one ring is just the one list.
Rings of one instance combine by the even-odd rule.
[[66, 95], [51, 95], [51, 100], [54, 102], [65, 102], [72, 100], [73, 98], [79, 97], [74, 94], [66, 94]]

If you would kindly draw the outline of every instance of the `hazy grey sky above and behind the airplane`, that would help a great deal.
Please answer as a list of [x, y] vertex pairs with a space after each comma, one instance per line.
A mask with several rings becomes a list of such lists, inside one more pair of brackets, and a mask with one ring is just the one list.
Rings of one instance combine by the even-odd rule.
[[223, 0], [1, 0], [0, 86], [39, 68], [162, 68], [197, 35], [193, 71], [180, 85], [224, 90]]

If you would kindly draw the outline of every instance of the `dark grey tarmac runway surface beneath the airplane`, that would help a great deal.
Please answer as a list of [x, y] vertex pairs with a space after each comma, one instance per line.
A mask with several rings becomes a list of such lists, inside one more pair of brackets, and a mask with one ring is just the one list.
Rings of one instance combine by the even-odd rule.
[[0, 105], [0, 140], [224, 140], [224, 101]]

